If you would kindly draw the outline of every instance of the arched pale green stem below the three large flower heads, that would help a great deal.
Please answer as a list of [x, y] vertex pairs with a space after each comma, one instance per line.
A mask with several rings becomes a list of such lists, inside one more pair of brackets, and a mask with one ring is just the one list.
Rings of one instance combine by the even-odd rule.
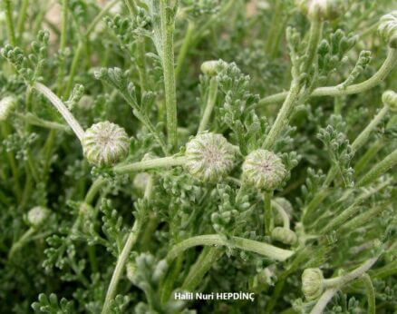
[[213, 245], [213, 246], [228, 246], [240, 250], [248, 250], [256, 252], [257, 254], [266, 256], [273, 260], [286, 260], [294, 255], [292, 250], [284, 250], [277, 248], [273, 245], [258, 242], [256, 240], [248, 240], [240, 237], [231, 237], [230, 239], [225, 239], [218, 234], [206, 234], [199, 235], [196, 237], [191, 237], [187, 240], [182, 240], [178, 244], [175, 244], [169, 254], [167, 255], [168, 260], [175, 259], [180, 253], [189, 248], [202, 246], [202, 245]]

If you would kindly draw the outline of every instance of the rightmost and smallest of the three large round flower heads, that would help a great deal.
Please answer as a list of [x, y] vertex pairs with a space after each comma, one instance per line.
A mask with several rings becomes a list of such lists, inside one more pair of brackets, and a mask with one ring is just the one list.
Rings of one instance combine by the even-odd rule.
[[286, 167], [274, 152], [250, 152], [243, 163], [243, 181], [260, 190], [273, 191], [286, 177]]

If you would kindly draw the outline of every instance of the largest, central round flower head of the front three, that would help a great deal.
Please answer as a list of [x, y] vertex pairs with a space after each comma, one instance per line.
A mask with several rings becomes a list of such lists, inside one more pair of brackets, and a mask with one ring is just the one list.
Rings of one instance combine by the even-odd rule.
[[232, 170], [236, 152], [222, 134], [200, 133], [186, 144], [185, 169], [203, 182], [218, 182]]

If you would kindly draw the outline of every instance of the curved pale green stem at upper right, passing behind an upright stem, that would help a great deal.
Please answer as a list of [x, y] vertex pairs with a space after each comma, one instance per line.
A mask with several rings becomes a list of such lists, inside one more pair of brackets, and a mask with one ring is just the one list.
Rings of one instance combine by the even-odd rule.
[[[353, 84], [347, 86], [346, 88], [341, 88], [340, 85], [319, 87], [315, 89], [315, 91], [311, 94], [311, 96], [312, 97], [343, 96], [354, 93], [363, 93], [364, 91], [367, 91], [375, 87], [376, 85], [382, 83], [382, 81], [387, 77], [387, 75], [389, 75], [392, 72], [392, 69], [394, 69], [396, 64], [397, 64], [397, 49], [391, 48], [387, 54], [386, 60], [382, 64], [382, 67], [379, 69], [379, 71], [376, 74], [373, 74], [373, 76], [367, 81], [364, 81], [363, 83]], [[288, 92], [276, 93], [274, 95], [262, 98], [258, 104], [261, 105], [267, 103], [281, 103], [286, 99], [287, 96], [288, 96]]]

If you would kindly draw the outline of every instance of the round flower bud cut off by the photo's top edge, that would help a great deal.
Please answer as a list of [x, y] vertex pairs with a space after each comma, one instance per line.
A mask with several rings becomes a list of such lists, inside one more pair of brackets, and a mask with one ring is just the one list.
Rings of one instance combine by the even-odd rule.
[[345, 0], [296, 0], [301, 12], [311, 20], [334, 20], [344, 13]]

